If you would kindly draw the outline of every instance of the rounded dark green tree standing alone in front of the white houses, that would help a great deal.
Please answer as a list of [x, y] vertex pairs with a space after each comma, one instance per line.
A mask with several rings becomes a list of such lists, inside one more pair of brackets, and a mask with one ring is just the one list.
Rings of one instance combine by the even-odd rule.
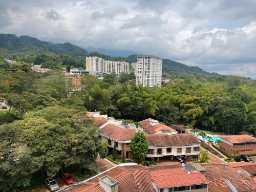
[[138, 163], [141, 163], [147, 152], [147, 138], [144, 133], [135, 133], [132, 138], [130, 148], [132, 156], [137, 159]]

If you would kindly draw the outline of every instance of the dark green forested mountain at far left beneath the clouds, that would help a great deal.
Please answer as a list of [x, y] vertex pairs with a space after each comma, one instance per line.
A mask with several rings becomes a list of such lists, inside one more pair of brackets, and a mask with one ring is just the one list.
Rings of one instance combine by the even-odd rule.
[[20, 50], [25, 48], [38, 48], [45, 51], [51, 51], [57, 54], [69, 54], [72, 56], [84, 56], [88, 51], [69, 42], [64, 44], [52, 45], [49, 42], [41, 41], [37, 38], [23, 35], [17, 37], [12, 34], [0, 34], [0, 47], [6, 50]]

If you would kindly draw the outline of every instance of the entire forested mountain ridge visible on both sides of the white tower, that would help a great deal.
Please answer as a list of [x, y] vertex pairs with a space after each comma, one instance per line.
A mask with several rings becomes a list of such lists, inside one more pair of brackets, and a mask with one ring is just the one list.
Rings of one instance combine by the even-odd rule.
[[[31, 54], [38, 55], [42, 53], [67, 54], [73, 57], [86, 57], [87, 55], [95, 55], [107, 60], [126, 61], [129, 63], [137, 62], [136, 54], [130, 55], [128, 57], [112, 57], [99, 52], [88, 52], [86, 49], [70, 44], [69, 42], [65, 42], [64, 44], [51, 44], [50, 42], [41, 41], [37, 38], [27, 35], [17, 37], [13, 34], [0, 34], [0, 58], [19, 60], [18, 56]], [[78, 65], [75, 67], [82, 66]], [[216, 75], [214, 73], [206, 72], [199, 67], [189, 67], [183, 63], [170, 59], [163, 59], [163, 72], [182, 75]]]

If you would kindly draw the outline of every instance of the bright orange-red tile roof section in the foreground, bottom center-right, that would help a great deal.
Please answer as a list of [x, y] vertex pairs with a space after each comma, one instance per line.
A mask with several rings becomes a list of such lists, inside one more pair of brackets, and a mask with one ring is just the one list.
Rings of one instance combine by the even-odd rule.
[[209, 181], [198, 171], [186, 172], [181, 168], [155, 170], [151, 172], [153, 181], [158, 188], [178, 187], [209, 183]]

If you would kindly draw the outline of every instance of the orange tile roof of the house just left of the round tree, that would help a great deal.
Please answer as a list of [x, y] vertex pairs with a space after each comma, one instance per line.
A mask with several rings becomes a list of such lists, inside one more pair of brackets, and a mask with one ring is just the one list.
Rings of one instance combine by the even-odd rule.
[[101, 129], [101, 136], [111, 138], [116, 141], [132, 140], [135, 129], [123, 129], [113, 124], [107, 124]]

